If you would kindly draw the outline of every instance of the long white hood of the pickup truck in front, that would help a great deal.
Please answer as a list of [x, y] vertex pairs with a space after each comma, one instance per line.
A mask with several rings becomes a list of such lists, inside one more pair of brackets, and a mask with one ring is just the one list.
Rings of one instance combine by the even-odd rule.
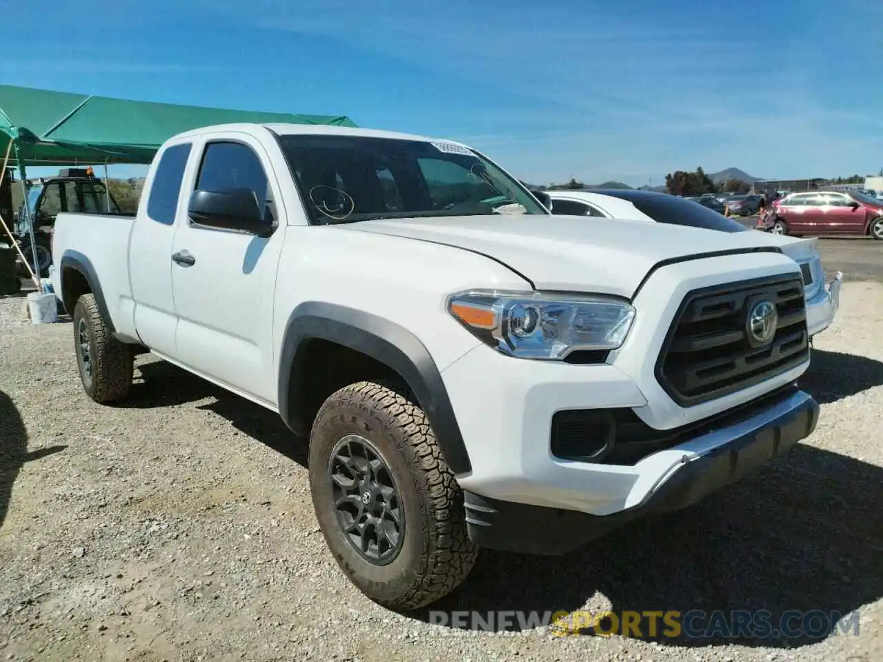
[[539, 290], [620, 297], [631, 297], [662, 260], [774, 245], [762, 232], [730, 234], [664, 223], [563, 215], [445, 216], [337, 227], [480, 252], [524, 275]]

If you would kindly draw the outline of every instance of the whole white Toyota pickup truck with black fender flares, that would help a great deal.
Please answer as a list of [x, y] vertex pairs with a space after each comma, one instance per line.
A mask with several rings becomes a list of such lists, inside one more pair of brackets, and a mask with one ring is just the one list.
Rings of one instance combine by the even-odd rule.
[[149, 350], [277, 412], [343, 572], [411, 609], [813, 431], [801, 272], [758, 235], [552, 215], [449, 140], [221, 125], [162, 146], [134, 219], [60, 214], [54, 285], [90, 397]]

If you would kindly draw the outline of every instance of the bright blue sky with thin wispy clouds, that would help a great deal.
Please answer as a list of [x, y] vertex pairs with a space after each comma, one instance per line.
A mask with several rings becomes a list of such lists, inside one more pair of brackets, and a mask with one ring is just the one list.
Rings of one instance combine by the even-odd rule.
[[3, 5], [18, 29], [0, 82], [348, 115], [463, 140], [539, 184], [883, 168], [883, 4], [867, 0]]

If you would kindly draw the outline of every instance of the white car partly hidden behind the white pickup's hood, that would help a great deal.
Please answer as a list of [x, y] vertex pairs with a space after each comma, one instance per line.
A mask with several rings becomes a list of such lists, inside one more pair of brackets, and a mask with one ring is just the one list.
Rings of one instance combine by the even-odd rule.
[[[721, 216], [692, 200], [667, 193], [630, 189], [547, 191], [547, 193], [553, 203], [552, 213], [558, 215], [660, 222], [721, 232], [750, 231], [741, 223]], [[830, 282], [826, 281], [818, 239], [785, 237], [766, 232], [757, 234], [765, 237], [769, 244], [781, 248], [781, 252], [800, 265], [804, 274], [806, 323], [810, 336], [818, 335], [830, 327], [840, 308], [843, 275], [838, 272]]]

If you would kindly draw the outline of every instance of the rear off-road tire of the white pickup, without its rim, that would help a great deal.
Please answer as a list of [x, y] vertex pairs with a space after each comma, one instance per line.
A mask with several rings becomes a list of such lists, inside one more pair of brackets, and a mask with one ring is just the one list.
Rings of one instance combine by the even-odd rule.
[[[85, 325], [88, 333], [91, 379], [84, 368], [79, 349], [79, 334]], [[95, 402], [117, 402], [125, 398], [132, 386], [134, 357], [129, 345], [119, 342], [104, 323], [93, 294], [84, 294], [73, 308], [73, 342], [77, 355], [79, 379], [83, 390]]]

